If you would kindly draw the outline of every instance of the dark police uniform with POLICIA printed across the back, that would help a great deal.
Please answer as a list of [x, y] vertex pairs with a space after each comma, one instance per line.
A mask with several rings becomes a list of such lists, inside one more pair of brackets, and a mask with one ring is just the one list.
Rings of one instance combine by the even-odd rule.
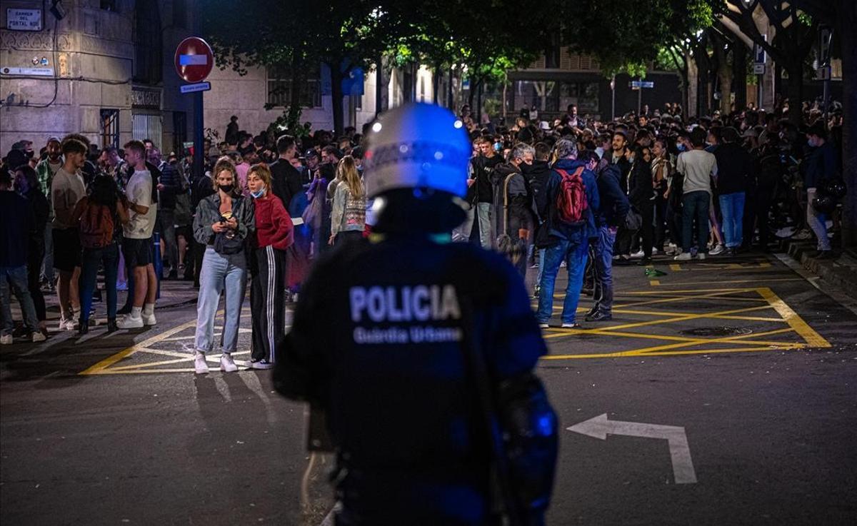
[[480, 342], [510, 420], [527, 422], [517, 435], [542, 440], [509, 445], [519, 461], [512, 472], [535, 481], [516, 492], [540, 517], [556, 420], [531, 375], [547, 349], [512, 266], [470, 243], [405, 233], [351, 242], [318, 261], [274, 386], [327, 411], [344, 505], [337, 524], [491, 523], [491, 448], [465, 341]]

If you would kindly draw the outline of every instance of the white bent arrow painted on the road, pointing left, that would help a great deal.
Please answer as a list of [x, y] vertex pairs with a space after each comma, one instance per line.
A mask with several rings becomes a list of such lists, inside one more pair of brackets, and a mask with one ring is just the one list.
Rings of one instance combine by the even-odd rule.
[[687, 445], [684, 427], [645, 424], [635, 421], [608, 420], [607, 413], [566, 427], [568, 431], [585, 434], [596, 439], [606, 440], [608, 434], [623, 434], [646, 439], [666, 439], [669, 444], [669, 457], [673, 460], [673, 475], [676, 484], [695, 484], [696, 471], [693, 470], [691, 449]]

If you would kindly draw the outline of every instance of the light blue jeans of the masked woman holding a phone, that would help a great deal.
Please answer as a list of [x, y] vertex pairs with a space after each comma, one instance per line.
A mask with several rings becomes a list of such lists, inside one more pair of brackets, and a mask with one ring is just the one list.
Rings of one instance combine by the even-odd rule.
[[230, 353], [238, 344], [241, 306], [247, 290], [247, 260], [243, 252], [223, 255], [207, 247], [202, 256], [200, 296], [196, 300], [196, 350], [210, 352], [214, 347], [214, 317], [224, 290], [226, 313], [220, 345], [223, 352]]

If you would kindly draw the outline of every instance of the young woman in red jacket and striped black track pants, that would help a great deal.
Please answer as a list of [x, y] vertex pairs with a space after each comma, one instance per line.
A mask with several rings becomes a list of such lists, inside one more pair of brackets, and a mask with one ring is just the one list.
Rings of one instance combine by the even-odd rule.
[[253, 351], [250, 367], [272, 368], [285, 338], [285, 249], [294, 242], [294, 225], [283, 201], [271, 193], [271, 170], [254, 164], [247, 186], [255, 204], [256, 234], [250, 265]]

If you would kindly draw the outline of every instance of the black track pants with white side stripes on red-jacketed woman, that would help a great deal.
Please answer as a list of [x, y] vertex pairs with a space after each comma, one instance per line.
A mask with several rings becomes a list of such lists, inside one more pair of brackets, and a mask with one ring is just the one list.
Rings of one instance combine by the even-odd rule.
[[256, 248], [250, 308], [253, 318], [254, 361], [277, 360], [276, 350], [285, 338], [285, 250]]

